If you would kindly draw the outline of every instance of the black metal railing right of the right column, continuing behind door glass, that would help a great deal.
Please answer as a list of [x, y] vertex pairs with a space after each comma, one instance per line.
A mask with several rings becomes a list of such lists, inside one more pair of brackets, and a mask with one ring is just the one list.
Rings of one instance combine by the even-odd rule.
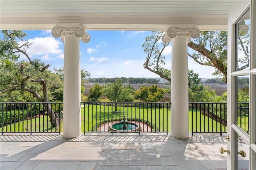
[[[191, 109], [192, 135], [194, 133], [226, 133], [227, 104], [210, 102], [189, 102]], [[246, 133], [249, 131], [249, 103], [239, 103], [237, 125]]]

